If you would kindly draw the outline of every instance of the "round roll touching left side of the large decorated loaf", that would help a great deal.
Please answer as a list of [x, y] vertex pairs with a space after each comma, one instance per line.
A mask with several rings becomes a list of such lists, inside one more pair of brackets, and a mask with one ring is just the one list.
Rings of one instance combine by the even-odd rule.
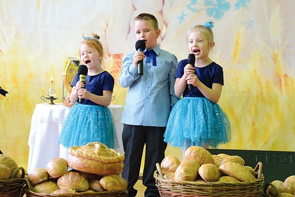
[[51, 178], [58, 178], [67, 172], [67, 169], [67, 163], [63, 158], [51, 159], [46, 165], [46, 170]]

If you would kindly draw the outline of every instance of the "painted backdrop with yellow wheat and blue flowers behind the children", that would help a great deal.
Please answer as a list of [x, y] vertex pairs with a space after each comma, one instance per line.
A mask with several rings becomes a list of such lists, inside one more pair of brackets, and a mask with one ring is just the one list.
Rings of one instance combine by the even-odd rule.
[[[294, 0], [0, 0], [0, 86], [9, 92], [0, 95], [0, 150], [27, 167], [34, 107], [52, 77], [62, 102], [62, 70], [67, 57], [79, 57], [83, 34], [100, 35], [116, 79], [112, 104], [124, 105], [121, 60], [135, 50], [134, 17], [147, 12], [158, 19], [159, 45], [178, 61], [188, 56], [186, 31], [215, 23], [212, 59], [225, 77], [219, 104], [232, 126], [232, 141], [220, 148], [295, 151], [294, 7]], [[166, 154], [181, 157], [173, 147]]]

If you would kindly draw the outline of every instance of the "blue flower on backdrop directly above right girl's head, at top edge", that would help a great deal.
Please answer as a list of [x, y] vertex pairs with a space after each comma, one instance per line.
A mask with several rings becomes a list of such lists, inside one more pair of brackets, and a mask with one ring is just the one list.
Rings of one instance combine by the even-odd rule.
[[206, 9], [206, 14], [215, 20], [220, 20], [224, 16], [224, 12], [231, 9], [231, 5], [226, 0], [205, 0], [205, 5], [208, 7]]

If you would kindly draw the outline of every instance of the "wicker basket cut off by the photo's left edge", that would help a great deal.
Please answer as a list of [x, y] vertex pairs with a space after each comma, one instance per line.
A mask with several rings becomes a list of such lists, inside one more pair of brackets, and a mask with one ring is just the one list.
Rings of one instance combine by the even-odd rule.
[[22, 171], [19, 178], [0, 180], [0, 197], [23, 197], [26, 191], [25, 169], [19, 167], [14, 170], [11, 177], [19, 171]]

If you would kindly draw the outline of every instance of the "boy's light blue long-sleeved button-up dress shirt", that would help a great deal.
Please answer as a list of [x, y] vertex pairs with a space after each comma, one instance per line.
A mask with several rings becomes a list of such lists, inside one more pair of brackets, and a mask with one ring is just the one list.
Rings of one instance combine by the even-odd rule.
[[166, 127], [169, 114], [180, 99], [175, 95], [177, 57], [157, 45], [156, 66], [144, 59], [144, 74], [133, 64], [135, 51], [124, 56], [119, 84], [129, 87], [121, 122], [129, 125]]

